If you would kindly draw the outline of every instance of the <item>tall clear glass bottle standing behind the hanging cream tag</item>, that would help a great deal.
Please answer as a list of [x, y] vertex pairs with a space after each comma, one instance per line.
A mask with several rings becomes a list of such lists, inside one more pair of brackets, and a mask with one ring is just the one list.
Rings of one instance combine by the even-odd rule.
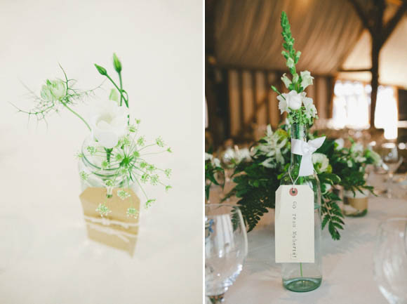
[[[300, 124], [291, 126], [291, 138], [307, 140], [307, 128]], [[321, 187], [315, 171], [311, 176], [298, 176], [301, 156], [291, 153], [291, 165], [281, 178], [280, 185], [309, 185], [314, 192], [314, 263], [281, 263], [283, 286], [296, 292], [312, 291], [322, 282], [321, 253]]]

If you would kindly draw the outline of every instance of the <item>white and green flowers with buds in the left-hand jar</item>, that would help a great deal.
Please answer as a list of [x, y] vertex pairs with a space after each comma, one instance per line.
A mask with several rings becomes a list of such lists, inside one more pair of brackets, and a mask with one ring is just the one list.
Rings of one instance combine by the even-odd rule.
[[[97, 100], [88, 120], [77, 113], [74, 106], [84, 102], [84, 98], [95, 95], [95, 90], [100, 86], [88, 91], [75, 88], [76, 80], [69, 79], [61, 66], [64, 78], [47, 79], [39, 95], [29, 91], [34, 106], [27, 111], [18, 108], [18, 112], [28, 114], [29, 117], [34, 116], [39, 121], [46, 121], [46, 117], [62, 109], [72, 112], [90, 132], [90, 137], [85, 140], [84, 147], [77, 157], [91, 161], [95, 168], [92, 171], [81, 170], [79, 172], [81, 180], [100, 177], [103, 172], [109, 171], [109, 178], [103, 179], [106, 199], [112, 197], [114, 190], [120, 199], [131, 197], [128, 190], [136, 183], [145, 195], [145, 206], [149, 207], [155, 199], [147, 195], [142, 184], [162, 185], [165, 190], [171, 189], [171, 185], [162, 181], [164, 177], [170, 178], [171, 169], [158, 168], [147, 161], [147, 157], [172, 151], [170, 147], [166, 147], [161, 137], [156, 138], [153, 143], [147, 143], [145, 136], [140, 135], [140, 119], [131, 119], [128, 111], [128, 93], [123, 88], [122, 65], [116, 54], [113, 55], [113, 65], [119, 77], [119, 84], [116, 84], [104, 67], [95, 64], [99, 74], [106, 77], [114, 88], [110, 91], [109, 98]], [[158, 147], [159, 150], [151, 150], [154, 147]], [[100, 201], [96, 211], [100, 216], [107, 216], [112, 212], [105, 201]], [[133, 218], [137, 218], [138, 213], [134, 205], [128, 207], [126, 211], [126, 215]]]

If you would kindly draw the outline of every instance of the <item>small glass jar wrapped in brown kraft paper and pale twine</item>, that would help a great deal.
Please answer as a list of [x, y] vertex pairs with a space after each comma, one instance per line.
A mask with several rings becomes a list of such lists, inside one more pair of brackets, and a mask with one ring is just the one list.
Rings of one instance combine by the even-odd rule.
[[91, 137], [86, 138], [79, 158], [79, 199], [88, 237], [133, 256], [140, 210], [140, 199], [135, 194], [137, 189], [134, 183], [128, 184], [124, 175], [119, 174], [119, 166], [102, 168], [107, 154], [91, 155], [88, 147], [95, 145], [97, 143]]

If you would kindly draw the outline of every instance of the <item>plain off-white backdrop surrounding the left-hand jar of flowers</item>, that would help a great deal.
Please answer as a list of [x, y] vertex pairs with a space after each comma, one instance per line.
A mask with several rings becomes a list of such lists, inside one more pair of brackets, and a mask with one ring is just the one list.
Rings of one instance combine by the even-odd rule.
[[[1, 303], [201, 303], [202, 23], [198, 0], [0, 2]], [[28, 124], [10, 105], [29, 108], [21, 82], [39, 93], [58, 62], [97, 86], [93, 63], [114, 74], [113, 52], [142, 133], [173, 149], [151, 159], [173, 168], [173, 190], [147, 187], [157, 201], [133, 258], [86, 238], [74, 158], [86, 126], [69, 112]]]

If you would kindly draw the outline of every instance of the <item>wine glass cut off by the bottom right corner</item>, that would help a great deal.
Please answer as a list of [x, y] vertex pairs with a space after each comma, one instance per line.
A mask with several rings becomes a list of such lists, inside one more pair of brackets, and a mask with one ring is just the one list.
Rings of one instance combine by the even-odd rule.
[[390, 218], [379, 225], [374, 274], [390, 304], [407, 303], [407, 218]]

